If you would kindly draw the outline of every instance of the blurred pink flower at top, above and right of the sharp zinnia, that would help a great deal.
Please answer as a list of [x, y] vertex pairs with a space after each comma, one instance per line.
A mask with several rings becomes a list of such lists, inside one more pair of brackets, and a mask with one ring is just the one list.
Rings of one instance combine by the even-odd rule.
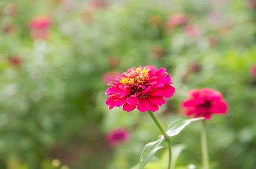
[[172, 14], [167, 20], [167, 25], [169, 27], [184, 25], [186, 23], [187, 16], [183, 13]]

